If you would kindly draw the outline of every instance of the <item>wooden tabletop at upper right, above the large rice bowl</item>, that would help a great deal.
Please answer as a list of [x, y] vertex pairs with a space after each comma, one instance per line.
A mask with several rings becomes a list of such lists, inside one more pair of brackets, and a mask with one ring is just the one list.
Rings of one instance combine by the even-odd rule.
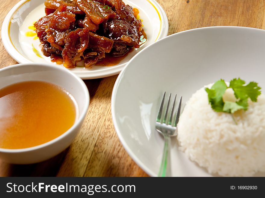
[[264, 28], [265, 1], [158, 0], [169, 19], [169, 34], [209, 26]]

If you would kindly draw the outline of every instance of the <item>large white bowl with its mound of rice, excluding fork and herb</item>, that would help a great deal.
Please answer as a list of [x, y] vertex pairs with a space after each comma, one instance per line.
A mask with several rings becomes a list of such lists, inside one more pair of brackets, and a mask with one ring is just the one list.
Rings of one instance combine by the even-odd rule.
[[[182, 96], [179, 134], [171, 139], [172, 176], [265, 176], [265, 96], [232, 117], [215, 112], [204, 90], [240, 77], [265, 93], [264, 38], [265, 30], [248, 27], [187, 30], [126, 65], [113, 89], [112, 118], [124, 148], [147, 174], [157, 176], [163, 155], [155, 121], [166, 91], [166, 97], [177, 94], [177, 102]], [[233, 92], [226, 92], [224, 100], [231, 99]]]

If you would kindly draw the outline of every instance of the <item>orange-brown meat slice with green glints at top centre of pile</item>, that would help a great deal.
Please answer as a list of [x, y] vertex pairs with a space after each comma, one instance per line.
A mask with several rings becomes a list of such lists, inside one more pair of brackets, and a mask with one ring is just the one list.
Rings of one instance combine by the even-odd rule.
[[102, 5], [92, 0], [75, 0], [78, 8], [84, 11], [94, 24], [114, 18], [116, 13], [108, 5]]

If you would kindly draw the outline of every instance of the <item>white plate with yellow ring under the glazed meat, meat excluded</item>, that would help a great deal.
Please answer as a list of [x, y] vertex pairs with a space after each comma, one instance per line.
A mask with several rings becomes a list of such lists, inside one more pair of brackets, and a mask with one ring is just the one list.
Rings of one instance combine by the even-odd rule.
[[[2, 41], [8, 53], [19, 63], [49, 63], [49, 57], [42, 55], [39, 39], [25, 36], [35, 21], [45, 16], [45, 0], [22, 0], [15, 5], [5, 17], [2, 25]], [[93, 79], [119, 74], [125, 64], [140, 50], [155, 41], [164, 38], [168, 33], [168, 20], [164, 10], [154, 0], [124, 0], [126, 4], [139, 9], [148, 41], [137, 50], [131, 52], [120, 64], [111, 67], [93, 66], [92, 68], [70, 69], [82, 79]], [[34, 48], [38, 51], [34, 52]], [[39, 54], [39, 55], [37, 55]], [[61, 65], [63, 67], [63, 65]]]

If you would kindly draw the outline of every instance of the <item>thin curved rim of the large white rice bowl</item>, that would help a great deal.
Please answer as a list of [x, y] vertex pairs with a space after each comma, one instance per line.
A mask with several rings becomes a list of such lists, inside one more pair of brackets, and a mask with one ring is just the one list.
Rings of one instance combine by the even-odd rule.
[[[135, 59], [137, 58], [137, 56], [141, 53], [143, 53], [145, 50], [148, 50], [149, 48], [155, 46], [155, 45], [159, 45], [160, 42], [164, 42], [164, 40], [166, 39], [170, 39], [170, 37], [173, 37], [175, 35], [179, 35], [179, 34], [182, 34], [182, 33], [186, 33], [186, 32], [190, 32], [190, 31], [199, 31], [201, 29], [218, 29], [218, 28], [227, 28], [227, 29], [252, 29], [252, 30], [255, 30], [255, 31], [263, 31], [265, 32], [265, 30], [263, 29], [258, 29], [258, 28], [253, 28], [253, 27], [241, 27], [241, 26], [210, 26], [210, 27], [200, 27], [200, 28], [194, 28], [194, 29], [190, 29], [190, 30], [185, 30], [185, 31], [182, 31], [182, 32], [178, 32], [178, 33], [174, 33], [174, 34], [171, 34], [163, 39], [160, 39], [159, 41], [157, 42], [154, 42], [152, 43], [150, 46], [147, 46], [145, 49], [142, 49], [142, 51], [138, 54], [136, 54], [126, 65], [125, 67], [123, 68], [123, 70], [120, 72], [119, 76], [117, 77], [117, 80], [114, 84], [114, 87], [113, 87], [113, 91], [112, 91], [112, 95], [111, 95], [111, 115], [112, 115], [112, 120], [113, 120], [113, 124], [114, 124], [114, 128], [116, 130], [116, 133], [120, 139], [120, 142], [122, 143], [124, 149], [126, 150], [126, 152], [129, 154], [129, 156], [133, 159], [133, 161], [140, 167], [142, 168], [145, 173], [147, 173], [149, 176], [151, 177], [157, 177], [157, 173], [154, 173], [153, 171], [151, 171], [146, 165], [144, 165], [142, 163], [142, 161], [134, 154], [134, 152], [130, 149], [130, 147], [128, 146], [128, 144], [126, 143], [126, 140], [123, 138], [123, 135], [121, 133], [121, 131], [119, 130], [119, 127], [118, 127], [118, 122], [117, 122], [117, 119], [115, 117], [115, 100], [116, 100], [116, 94], [117, 94], [117, 89], [118, 89], [118, 86], [119, 86], [119, 83], [120, 83], [120, 79], [122, 78], [123, 76], [123, 73], [126, 71], [126, 68], [128, 67], [128, 65]], [[163, 149], [163, 148], [161, 148]]]

